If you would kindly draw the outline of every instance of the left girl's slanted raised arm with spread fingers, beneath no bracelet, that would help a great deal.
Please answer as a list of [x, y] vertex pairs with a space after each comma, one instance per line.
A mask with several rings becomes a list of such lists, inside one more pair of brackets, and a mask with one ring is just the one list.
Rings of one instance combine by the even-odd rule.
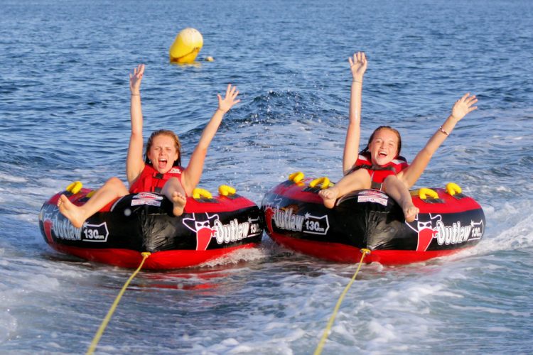
[[220, 94], [217, 94], [218, 109], [215, 111], [215, 114], [212, 115], [208, 125], [205, 126], [202, 136], [200, 136], [200, 141], [198, 141], [198, 145], [194, 149], [193, 154], [190, 155], [189, 164], [182, 173], [183, 190], [185, 190], [187, 195], [191, 195], [193, 189], [198, 185], [198, 182], [200, 182], [205, 155], [208, 154], [209, 145], [212, 138], [215, 136], [215, 133], [217, 133], [220, 122], [222, 122], [222, 117], [227, 111], [230, 111], [233, 105], [241, 101], [236, 99], [238, 94], [239, 91], [237, 90], [237, 87], [232, 87], [231, 84], [227, 84], [224, 99], [222, 99]]

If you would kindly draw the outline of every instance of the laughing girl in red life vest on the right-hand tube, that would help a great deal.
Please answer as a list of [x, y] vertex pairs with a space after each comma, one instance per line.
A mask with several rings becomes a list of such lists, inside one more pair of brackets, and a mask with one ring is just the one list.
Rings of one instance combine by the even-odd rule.
[[349, 58], [352, 71], [350, 91], [350, 120], [343, 154], [344, 177], [333, 187], [321, 190], [319, 195], [325, 207], [333, 208], [339, 197], [349, 192], [377, 188], [392, 197], [402, 207], [407, 222], [412, 222], [419, 213], [414, 206], [411, 188], [431, 160], [431, 156], [456, 126], [458, 121], [478, 107], [478, 99], [466, 93], [453, 105], [451, 115], [429, 138], [426, 146], [416, 155], [411, 165], [399, 153], [402, 139], [397, 130], [389, 126], [378, 127], [368, 141], [367, 147], [357, 154], [360, 141], [362, 82], [367, 70], [365, 53], [357, 52]]

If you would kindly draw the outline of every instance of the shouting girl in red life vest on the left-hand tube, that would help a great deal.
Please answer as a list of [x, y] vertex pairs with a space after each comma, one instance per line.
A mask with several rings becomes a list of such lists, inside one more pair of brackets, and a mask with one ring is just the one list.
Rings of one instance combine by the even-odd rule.
[[92, 195], [87, 203], [76, 206], [61, 195], [58, 200], [60, 212], [67, 217], [73, 226], [79, 228], [85, 220], [105, 207], [118, 197], [144, 191], [160, 192], [173, 202], [173, 213], [183, 214], [187, 202], [186, 197], [193, 193], [202, 175], [205, 155], [212, 138], [222, 122], [222, 117], [235, 104], [239, 92], [231, 84], [227, 85], [225, 97], [218, 97], [218, 108], [211, 117], [200, 136], [200, 141], [189, 164], [182, 168], [181, 143], [172, 131], [155, 131], [146, 143], [146, 159], [143, 159], [143, 116], [141, 110], [141, 80], [144, 65], [141, 64], [129, 75], [131, 90], [131, 136], [129, 138], [128, 155], [126, 158], [126, 178], [130, 188], [126, 188], [119, 178], [111, 178]]

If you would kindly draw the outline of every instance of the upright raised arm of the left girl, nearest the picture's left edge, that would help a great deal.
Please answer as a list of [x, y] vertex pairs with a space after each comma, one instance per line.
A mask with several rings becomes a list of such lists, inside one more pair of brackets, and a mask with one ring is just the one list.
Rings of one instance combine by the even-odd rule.
[[144, 64], [138, 65], [133, 74], [129, 75], [131, 90], [131, 136], [129, 137], [128, 156], [126, 158], [126, 178], [131, 185], [139, 178], [144, 169], [143, 160], [143, 113], [141, 109], [141, 81], [144, 75]]

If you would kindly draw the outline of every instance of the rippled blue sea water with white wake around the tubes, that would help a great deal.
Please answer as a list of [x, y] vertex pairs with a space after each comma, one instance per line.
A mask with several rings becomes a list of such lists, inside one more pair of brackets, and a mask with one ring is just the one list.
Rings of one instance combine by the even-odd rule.
[[[73, 180], [124, 179], [128, 73], [146, 64], [145, 132], [176, 131], [185, 163], [236, 84], [201, 187], [257, 203], [289, 173], [341, 176], [347, 58], [369, 60], [363, 139], [391, 124], [412, 159], [465, 92], [461, 121], [417, 186], [453, 181], [485, 210], [470, 251], [363, 266], [324, 354], [527, 354], [533, 347], [533, 4], [530, 1], [7, 1], [0, 20], [0, 352], [87, 350], [131, 271], [52, 251], [45, 200]], [[195, 65], [171, 65], [197, 28]], [[214, 62], [202, 62], [206, 56]], [[125, 180], [125, 179], [124, 179]], [[101, 354], [310, 354], [355, 265], [260, 249], [141, 272]]]

